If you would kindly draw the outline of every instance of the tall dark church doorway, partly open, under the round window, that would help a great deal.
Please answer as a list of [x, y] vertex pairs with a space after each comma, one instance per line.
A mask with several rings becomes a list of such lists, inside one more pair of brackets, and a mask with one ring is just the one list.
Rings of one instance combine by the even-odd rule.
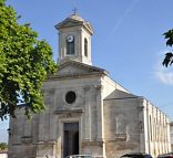
[[79, 154], [79, 123], [63, 124], [63, 157]]

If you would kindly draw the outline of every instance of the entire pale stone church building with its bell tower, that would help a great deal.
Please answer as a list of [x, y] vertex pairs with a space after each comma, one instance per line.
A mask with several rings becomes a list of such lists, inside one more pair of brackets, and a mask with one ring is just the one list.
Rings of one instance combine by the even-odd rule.
[[92, 27], [77, 14], [55, 25], [59, 69], [43, 85], [45, 112], [10, 119], [9, 158], [64, 158], [171, 150], [167, 116], [92, 66]]

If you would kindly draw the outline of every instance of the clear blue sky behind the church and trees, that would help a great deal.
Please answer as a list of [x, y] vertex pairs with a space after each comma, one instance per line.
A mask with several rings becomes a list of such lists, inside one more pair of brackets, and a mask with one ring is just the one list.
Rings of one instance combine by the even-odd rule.
[[[31, 23], [58, 59], [54, 25], [77, 12], [93, 28], [92, 63], [138, 96], [144, 96], [173, 120], [173, 66], [163, 67], [163, 33], [173, 28], [173, 0], [7, 0], [19, 23]], [[0, 122], [7, 141], [8, 120]]]

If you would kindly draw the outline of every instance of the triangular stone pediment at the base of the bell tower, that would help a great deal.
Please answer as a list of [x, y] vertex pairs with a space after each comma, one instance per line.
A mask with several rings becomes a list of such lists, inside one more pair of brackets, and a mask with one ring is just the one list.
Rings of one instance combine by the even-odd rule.
[[94, 74], [108, 74], [105, 70], [86, 65], [77, 61], [68, 60], [64, 63], [60, 64], [57, 77], [62, 76], [82, 76], [82, 75], [94, 75]]

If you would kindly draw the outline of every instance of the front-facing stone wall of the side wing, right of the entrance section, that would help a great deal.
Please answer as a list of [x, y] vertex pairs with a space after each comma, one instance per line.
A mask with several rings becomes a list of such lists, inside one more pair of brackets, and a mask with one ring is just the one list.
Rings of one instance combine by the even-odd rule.
[[140, 151], [139, 113], [136, 98], [104, 101], [104, 140], [108, 158]]

